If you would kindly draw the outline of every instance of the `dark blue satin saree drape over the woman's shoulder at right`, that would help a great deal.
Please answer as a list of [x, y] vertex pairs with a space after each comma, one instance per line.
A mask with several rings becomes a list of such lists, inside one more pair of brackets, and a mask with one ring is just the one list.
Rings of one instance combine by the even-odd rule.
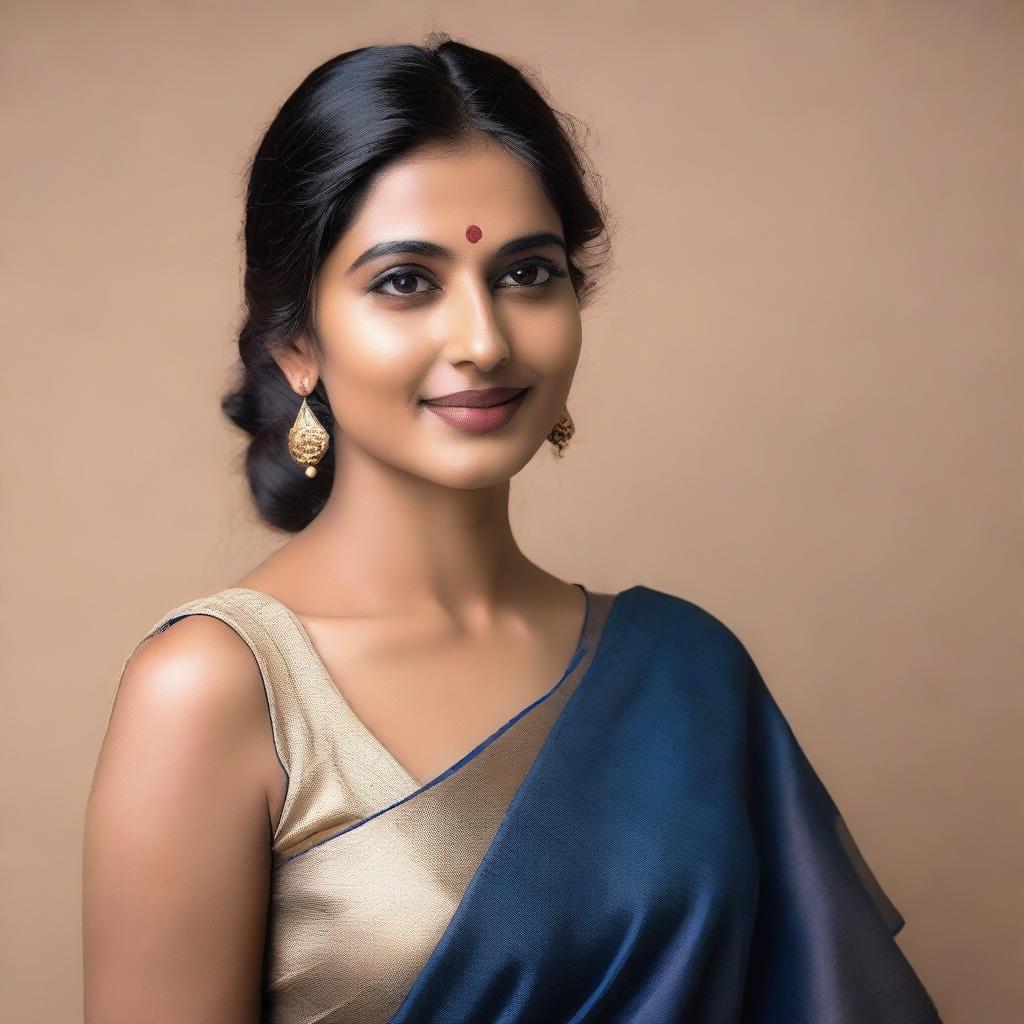
[[612, 608], [393, 1024], [927, 1024], [858, 856], [730, 631]]

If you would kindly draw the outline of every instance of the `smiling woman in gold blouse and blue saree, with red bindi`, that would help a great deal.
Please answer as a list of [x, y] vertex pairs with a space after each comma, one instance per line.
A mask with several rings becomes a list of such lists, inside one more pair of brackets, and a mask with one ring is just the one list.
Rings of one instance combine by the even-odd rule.
[[440, 37], [266, 131], [224, 410], [294, 537], [125, 663], [88, 1021], [938, 1020], [736, 636], [516, 546], [606, 250], [572, 125]]

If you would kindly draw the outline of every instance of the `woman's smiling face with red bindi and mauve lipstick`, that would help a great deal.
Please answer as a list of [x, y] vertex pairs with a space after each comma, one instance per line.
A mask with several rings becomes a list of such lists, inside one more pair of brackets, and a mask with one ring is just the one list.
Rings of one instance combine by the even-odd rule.
[[[330, 397], [339, 467], [355, 445], [433, 482], [481, 487], [532, 458], [582, 342], [560, 241], [537, 178], [497, 143], [425, 146], [378, 175], [317, 282], [323, 352], [308, 376]], [[444, 416], [423, 402], [487, 388], [527, 390]]]

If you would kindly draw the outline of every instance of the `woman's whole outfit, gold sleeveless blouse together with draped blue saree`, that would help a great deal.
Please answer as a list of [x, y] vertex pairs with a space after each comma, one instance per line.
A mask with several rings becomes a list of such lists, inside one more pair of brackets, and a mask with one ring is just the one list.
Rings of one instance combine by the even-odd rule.
[[146, 634], [212, 614], [260, 667], [289, 777], [265, 1024], [941, 1024], [742, 643], [662, 591], [585, 593], [562, 678], [426, 783], [276, 599]]

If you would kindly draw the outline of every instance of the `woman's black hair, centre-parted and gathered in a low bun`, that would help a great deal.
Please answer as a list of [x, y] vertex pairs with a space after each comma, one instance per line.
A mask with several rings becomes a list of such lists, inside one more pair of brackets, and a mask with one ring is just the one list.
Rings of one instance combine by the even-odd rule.
[[[581, 123], [527, 76], [446, 33], [423, 46], [365, 46], [310, 72], [266, 129], [246, 193], [239, 380], [221, 408], [250, 435], [246, 475], [271, 528], [296, 532], [312, 521], [331, 490], [335, 453], [332, 442], [312, 478], [292, 460], [288, 431], [301, 399], [271, 351], [299, 333], [318, 344], [317, 273], [382, 168], [430, 141], [497, 140], [537, 174], [561, 217], [581, 307], [590, 297], [609, 249], [599, 178]], [[333, 440], [323, 382], [306, 400]]]

